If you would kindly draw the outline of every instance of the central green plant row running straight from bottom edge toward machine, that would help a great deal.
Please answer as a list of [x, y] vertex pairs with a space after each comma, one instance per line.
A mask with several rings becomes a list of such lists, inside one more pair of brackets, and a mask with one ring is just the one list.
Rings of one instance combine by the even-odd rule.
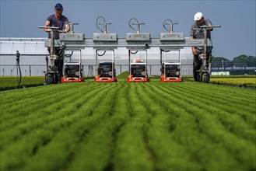
[[[131, 119], [121, 127], [117, 134], [114, 152], [117, 170], [153, 170], [152, 154], [148, 152], [144, 141], [144, 129], [149, 120], [144, 104], [139, 100], [137, 84], [128, 84]], [[139, 154], [139, 155], [138, 155]]]

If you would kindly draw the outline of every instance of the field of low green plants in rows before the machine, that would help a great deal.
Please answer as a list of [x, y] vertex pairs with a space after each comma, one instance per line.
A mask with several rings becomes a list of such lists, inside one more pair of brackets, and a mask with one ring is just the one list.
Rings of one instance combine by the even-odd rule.
[[256, 169], [255, 89], [151, 79], [0, 93], [0, 170]]

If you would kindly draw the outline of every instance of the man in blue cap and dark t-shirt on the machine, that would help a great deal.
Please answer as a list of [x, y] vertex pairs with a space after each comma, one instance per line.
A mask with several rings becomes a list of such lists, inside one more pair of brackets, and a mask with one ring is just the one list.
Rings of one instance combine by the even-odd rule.
[[[61, 30], [61, 33], [67, 33], [69, 31], [68, 18], [65, 16], [62, 16], [62, 12], [63, 12], [63, 6], [60, 3], [56, 4], [54, 7], [54, 14], [52, 14], [51, 16], [48, 16], [48, 18], [44, 23], [44, 26], [58, 27], [58, 30]], [[44, 31], [48, 33], [48, 38], [51, 39], [51, 29], [45, 28]], [[54, 35], [55, 40], [59, 39], [59, 34], [60, 32], [58, 31], [55, 32], [55, 35]], [[51, 47], [48, 47], [48, 51], [50, 53]], [[54, 54], [58, 56], [58, 58], [54, 60], [54, 66], [57, 67], [57, 70], [59, 73], [58, 81], [61, 81], [64, 52], [61, 48], [55, 47]]]

